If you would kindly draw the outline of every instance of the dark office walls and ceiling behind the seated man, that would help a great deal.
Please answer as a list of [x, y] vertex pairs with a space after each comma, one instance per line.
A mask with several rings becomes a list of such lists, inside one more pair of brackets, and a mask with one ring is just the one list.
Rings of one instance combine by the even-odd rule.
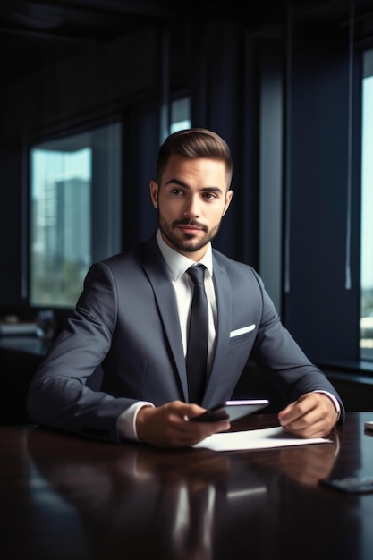
[[[0, 318], [39, 311], [30, 303], [30, 148], [122, 124], [126, 250], [157, 227], [148, 182], [170, 107], [189, 98], [191, 125], [218, 132], [233, 153], [233, 203], [216, 248], [259, 271], [285, 327], [346, 410], [371, 410], [373, 353], [369, 360], [360, 348], [371, 1], [8, 0], [0, 47]], [[68, 310], [54, 312], [58, 325]], [[40, 360], [13, 340], [0, 338], [2, 408], [12, 422], [24, 419]], [[237, 394], [275, 400], [256, 374]]]

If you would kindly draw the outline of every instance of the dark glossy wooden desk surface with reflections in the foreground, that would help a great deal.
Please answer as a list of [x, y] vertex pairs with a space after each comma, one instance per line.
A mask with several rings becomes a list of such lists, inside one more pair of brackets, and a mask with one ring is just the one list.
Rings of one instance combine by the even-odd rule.
[[[373, 475], [373, 412], [333, 443], [215, 453], [0, 428], [4, 560], [371, 560], [373, 494], [318, 479]], [[241, 428], [277, 425], [271, 414]]]

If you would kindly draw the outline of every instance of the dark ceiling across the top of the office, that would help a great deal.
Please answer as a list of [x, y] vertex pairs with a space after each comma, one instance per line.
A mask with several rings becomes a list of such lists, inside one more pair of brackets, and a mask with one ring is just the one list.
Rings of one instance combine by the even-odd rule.
[[[91, 43], [105, 43], [148, 25], [220, 17], [252, 28], [283, 20], [286, 1], [260, 0], [1, 0], [0, 48], [3, 77], [14, 81], [43, 64], [53, 64]], [[292, 1], [293, 11], [310, 23], [346, 25], [350, 0]], [[355, 0], [360, 33], [372, 34], [373, 1]]]

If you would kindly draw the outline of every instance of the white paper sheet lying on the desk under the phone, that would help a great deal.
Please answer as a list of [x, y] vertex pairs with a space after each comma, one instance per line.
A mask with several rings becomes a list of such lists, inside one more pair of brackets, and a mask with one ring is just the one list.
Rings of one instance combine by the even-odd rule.
[[223, 432], [206, 437], [193, 447], [212, 449], [213, 451], [244, 451], [249, 449], [270, 449], [289, 445], [330, 444], [331, 439], [314, 437], [305, 439], [293, 436], [281, 426], [276, 428], [250, 429], [240, 432]]

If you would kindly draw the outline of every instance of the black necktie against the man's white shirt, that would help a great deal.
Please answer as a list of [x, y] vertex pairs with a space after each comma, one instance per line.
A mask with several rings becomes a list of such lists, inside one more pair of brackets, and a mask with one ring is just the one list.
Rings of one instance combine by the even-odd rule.
[[187, 273], [194, 284], [186, 359], [189, 402], [199, 404], [205, 386], [208, 360], [208, 300], [204, 285], [205, 267], [192, 266], [188, 268]]

